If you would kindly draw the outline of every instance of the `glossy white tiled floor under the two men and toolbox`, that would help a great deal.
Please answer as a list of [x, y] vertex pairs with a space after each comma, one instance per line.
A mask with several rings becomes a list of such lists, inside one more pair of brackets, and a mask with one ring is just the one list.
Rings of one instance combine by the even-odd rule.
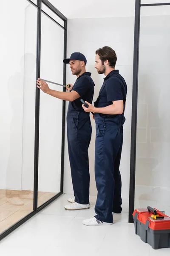
[[[149, 244], [145, 244], [135, 234], [134, 224], [128, 223], [127, 212], [113, 214], [114, 223], [111, 226], [88, 227], [83, 225], [83, 219], [96, 215], [94, 212], [96, 196], [90, 197], [90, 209], [79, 211], [66, 211], [64, 209], [65, 204], [68, 204], [67, 199], [69, 197], [73, 197], [73, 195], [62, 195], [0, 241], [0, 255], [170, 255], [170, 248], [153, 250]], [[147, 203], [148, 201], [142, 202], [142, 204]], [[142, 205], [142, 207], [147, 206]], [[77, 250], [75, 250], [75, 244]]]

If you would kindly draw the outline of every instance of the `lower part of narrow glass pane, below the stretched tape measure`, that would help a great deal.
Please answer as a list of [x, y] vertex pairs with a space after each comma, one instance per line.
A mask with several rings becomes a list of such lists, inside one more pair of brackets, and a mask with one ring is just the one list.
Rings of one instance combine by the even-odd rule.
[[[48, 83], [51, 89], [63, 87]], [[38, 206], [60, 192], [62, 100], [40, 91]]]

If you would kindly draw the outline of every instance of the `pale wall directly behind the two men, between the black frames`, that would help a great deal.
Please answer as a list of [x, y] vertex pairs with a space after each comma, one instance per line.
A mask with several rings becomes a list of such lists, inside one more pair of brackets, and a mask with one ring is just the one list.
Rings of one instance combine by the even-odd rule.
[[[127, 106], [125, 111], [126, 122], [124, 125], [124, 145], [120, 170], [122, 173], [122, 197], [124, 210], [128, 210], [129, 196], [129, 169], [130, 169], [130, 131], [131, 131], [131, 101], [132, 101], [132, 73], [133, 73], [133, 34], [134, 17], [113, 18], [87, 18], [68, 20], [68, 57], [72, 52], [80, 51], [87, 58], [87, 71], [92, 73], [96, 84], [94, 101], [96, 100], [104, 75], [98, 75], [94, 68], [95, 51], [99, 47], [110, 46], [117, 54], [116, 69], [125, 78], [128, 87]], [[71, 75], [67, 69], [67, 83], [74, 83], [76, 77]], [[90, 194], [96, 195], [96, 184], [94, 179], [94, 142], [95, 125], [92, 120], [93, 135], [89, 148], [90, 161]], [[65, 143], [65, 176], [64, 192], [72, 193], [70, 166], [68, 160], [67, 141]]]

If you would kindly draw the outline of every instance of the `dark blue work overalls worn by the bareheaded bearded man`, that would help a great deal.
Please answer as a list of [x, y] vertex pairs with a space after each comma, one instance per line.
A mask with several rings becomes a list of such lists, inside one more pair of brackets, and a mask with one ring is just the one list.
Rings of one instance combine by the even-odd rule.
[[[98, 105], [103, 87], [105, 85], [102, 86], [99, 92], [95, 107]], [[126, 89], [125, 95], [127, 92]], [[95, 178], [98, 191], [95, 217], [99, 221], [109, 223], [113, 222], [112, 211], [122, 211], [122, 181], [119, 165], [123, 144], [125, 101], [126, 99], [124, 99], [124, 109], [121, 115], [113, 118], [103, 118], [99, 113], [95, 113]]]

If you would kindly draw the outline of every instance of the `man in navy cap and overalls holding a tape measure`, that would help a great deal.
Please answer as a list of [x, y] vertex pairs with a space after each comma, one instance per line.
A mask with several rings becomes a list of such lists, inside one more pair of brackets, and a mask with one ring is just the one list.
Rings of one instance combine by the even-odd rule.
[[85, 70], [87, 60], [82, 53], [74, 52], [70, 58], [64, 59], [63, 62], [70, 64], [72, 74], [77, 76], [74, 86], [69, 84], [71, 87], [66, 88], [70, 93], [51, 90], [42, 79], [37, 80], [37, 87], [44, 93], [69, 101], [67, 137], [74, 198], [68, 199], [71, 204], [66, 205], [65, 209], [89, 209], [88, 147], [91, 141], [91, 121], [89, 113], [84, 112], [80, 99], [92, 103], [94, 81], [91, 79], [91, 73]]

